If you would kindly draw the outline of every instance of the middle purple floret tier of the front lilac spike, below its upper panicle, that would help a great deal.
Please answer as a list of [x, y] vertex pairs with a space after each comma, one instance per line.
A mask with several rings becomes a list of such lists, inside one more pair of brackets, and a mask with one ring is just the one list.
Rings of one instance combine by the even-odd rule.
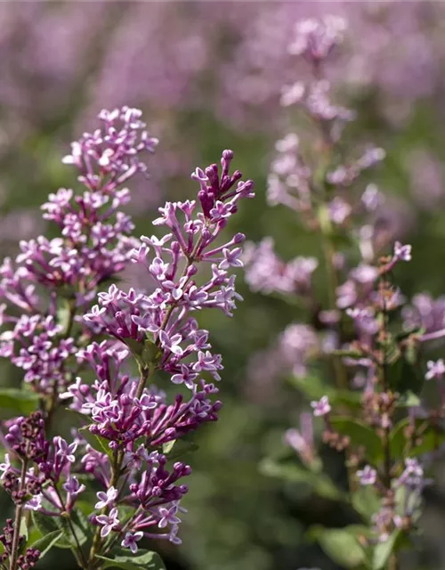
[[[190, 380], [190, 399], [178, 394], [172, 404], [167, 404], [165, 393], [154, 387], [137, 396], [137, 382], [120, 372], [128, 356], [128, 350], [110, 347], [106, 341], [93, 343], [82, 358], [92, 364], [96, 382], [90, 387], [78, 378], [61, 395], [73, 398], [73, 410], [91, 416], [90, 431], [109, 440], [110, 447], [134, 444], [143, 437], [146, 445], [157, 448], [216, 419], [221, 403], [212, 403], [210, 398], [217, 389], [202, 379], [194, 383]], [[178, 383], [174, 376], [172, 381]], [[96, 475], [105, 482], [103, 474]]]

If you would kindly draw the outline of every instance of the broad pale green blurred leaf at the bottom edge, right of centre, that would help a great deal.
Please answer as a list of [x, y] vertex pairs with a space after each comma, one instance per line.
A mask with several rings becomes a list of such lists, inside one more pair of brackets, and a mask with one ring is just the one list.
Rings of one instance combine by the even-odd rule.
[[360, 534], [366, 536], [367, 533], [367, 527], [360, 525], [338, 529], [316, 526], [311, 529], [309, 535], [319, 542], [320, 547], [336, 564], [344, 568], [356, 568], [363, 565], [367, 559], [359, 542]]

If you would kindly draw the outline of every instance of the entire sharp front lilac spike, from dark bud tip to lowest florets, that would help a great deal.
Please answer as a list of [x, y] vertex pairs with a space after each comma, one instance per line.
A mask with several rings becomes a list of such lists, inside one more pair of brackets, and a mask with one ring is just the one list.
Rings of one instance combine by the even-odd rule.
[[[84, 468], [107, 489], [98, 493], [100, 501], [95, 507], [100, 514], [92, 518], [100, 528], [93, 554], [102, 539], [124, 531], [121, 545], [132, 552], [137, 551], [142, 536], [180, 542], [176, 533], [181, 519], [176, 513], [187, 486], [174, 483], [188, 476], [190, 467], [177, 462], [169, 472], [166, 456], [150, 450], [163, 449], [202, 423], [213, 421], [221, 406], [211, 401], [217, 389], [202, 378], [221, 379], [221, 355], [211, 353], [208, 331], [199, 329], [191, 314], [218, 308], [231, 316], [235, 301], [241, 298], [229, 270], [242, 266], [239, 245], [244, 236], [237, 233], [223, 245], [217, 243], [228, 218], [237, 211], [239, 199], [254, 196], [251, 181], [241, 182], [238, 171], [229, 174], [232, 158], [231, 151], [223, 151], [221, 175], [216, 165], [205, 171], [198, 168], [192, 175], [199, 185], [198, 202], [167, 202], [159, 208], [161, 216], [153, 224], [166, 225], [169, 232], [162, 238], [142, 236], [142, 245], [131, 252], [134, 263], [149, 274], [152, 292], [130, 289], [125, 293], [111, 285], [98, 294], [99, 305], [84, 316], [94, 330], [119, 341], [114, 345], [92, 343], [79, 351], [77, 359], [89, 362], [97, 379], [88, 386], [78, 378], [61, 395], [72, 398], [70, 406], [85, 414], [90, 420], [89, 432], [108, 441], [115, 458], [110, 468], [103, 454], [86, 447]], [[203, 284], [195, 279], [199, 265], [209, 265], [211, 270]], [[130, 354], [138, 363], [140, 379], [123, 372]], [[190, 397], [176, 395], [168, 404], [163, 392], [146, 387], [154, 371], [166, 371], [174, 384], [190, 390]], [[134, 483], [117, 491], [119, 474], [126, 474]], [[121, 501], [134, 506], [134, 516], [126, 524], [118, 516]], [[167, 526], [168, 532], [153, 533], [157, 527]]]

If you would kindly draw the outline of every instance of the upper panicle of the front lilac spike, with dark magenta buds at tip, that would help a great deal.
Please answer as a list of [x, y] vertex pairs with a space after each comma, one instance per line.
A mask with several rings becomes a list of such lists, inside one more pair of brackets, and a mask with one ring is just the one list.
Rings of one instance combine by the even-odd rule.
[[[142, 246], [133, 250], [132, 259], [147, 269], [153, 292], [144, 295], [130, 289], [125, 293], [112, 285], [99, 294], [99, 305], [85, 314], [86, 322], [123, 341], [142, 359], [150, 346], [158, 349], [156, 368], [190, 389], [205, 372], [219, 380], [223, 368], [221, 356], [209, 350], [208, 331], [198, 329], [191, 314], [219, 308], [231, 316], [241, 298], [229, 270], [242, 266], [239, 245], [244, 235], [237, 233], [230, 241], [217, 243], [239, 199], [254, 195], [251, 181], [241, 182], [238, 171], [229, 175], [232, 158], [231, 151], [223, 151], [221, 175], [215, 164], [193, 173], [201, 211], [196, 200], [167, 202], [153, 224], [166, 225], [169, 232], [161, 239], [142, 236]], [[203, 284], [195, 279], [199, 264], [211, 269]]]

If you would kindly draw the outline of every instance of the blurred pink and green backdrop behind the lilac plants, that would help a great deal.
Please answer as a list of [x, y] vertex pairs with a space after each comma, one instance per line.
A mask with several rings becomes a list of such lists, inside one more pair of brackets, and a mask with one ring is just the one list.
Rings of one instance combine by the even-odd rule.
[[[18, 240], [44, 231], [38, 206], [49, 192], [77, 187], [69, 167], [61, 165], [69, 142], [95, 127], [101, 108], [126, 104], [144, 110], [151, 134], [160, 139], [150, 181], [142, 178], [132, 187], [136, 235], [150, 235], [153, 213], [166, 199], [190, 197], [196, 166], [231, 148], [234, 166], [255, 180], [257, 191], [234, 217], [233, 230], [251, 240], [273, 235], [285, 258], [317, 256], [316, 240], [290, 211], [268, 208], [264, 191], [274, 143], [289, 128], [279, 108], [280, 88], [303, 73], [286, 46], [297, 20], [328, 13], [349, 21], [342, 54], [330, 69], [340, 101], [359, 111], [349, 134], [387, 151], [372, 180], [388, 196], [385, 223], [414, 247], [413, 262], [400, 272], [401, 288], [407, 297], [441, 295], [445, 2], [428, 0], [1, 2], [3, 255], [13, 255]], [[304, 136], [298, 118], [294, 128]], [[315, 275], [323, 295], [322, 275]], [[241, 274], [239, 290], [245, 302], [232, 321], [222, 314], [208, 322], [202, 315], [223, 354], [224, 407], [220, 421], [199, 433], [199, 450], [190, 456], [194, 474], [184, 501], [189, 514], [183, 545], [159, 548], [169, 570], [331, 570], [336, 566], [305, 541], [305, 530], [314, 523], [344, 525], [351, 514], [258, 469], [304, 405], [264, 355], [298, 312], [249, 292]], [[14, 374], [4, 364], [2, 381], [13, 383]], [[332, 471], [341, 482], [337, 465], [333, 456]], [[445, 567], [445, 477], [426, 499], [426, 555], [411, 554], [404, 568]], [[7, 501], [0, 501], [3, 515]], [[42, 567], [61, 567], [65, 555], [59, 550]], [[69, 565], [66, 558], [63, 567]]]

